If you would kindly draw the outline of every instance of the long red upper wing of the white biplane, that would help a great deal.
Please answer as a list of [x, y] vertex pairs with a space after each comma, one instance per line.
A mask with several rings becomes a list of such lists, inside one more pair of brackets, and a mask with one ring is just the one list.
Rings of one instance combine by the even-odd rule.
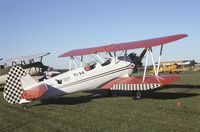
[[187, 36], [188, 36], [187, 34], [178, 34], [178, 35], [147, 39], [147, 40], [141, 40], [141, 41], [110, 44], [106, 46], [99, 46], [99, 47], [93, 47], [93, 48], [77, 49], [77, 50], [68, 51], [60, 55], [59, 57], [70, 57], [70, 56], [94, 54], [97, 52], [112, 52], [112, 51], [120, 51], [120, 50], [128, 50], [128, 49], [147, 48], [147, 47], [167, 44], [167, 43], [182, 39]]

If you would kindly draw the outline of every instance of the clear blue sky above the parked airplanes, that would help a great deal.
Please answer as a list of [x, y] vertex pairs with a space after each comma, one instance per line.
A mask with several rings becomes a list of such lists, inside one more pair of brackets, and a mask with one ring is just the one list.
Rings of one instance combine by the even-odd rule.
[[166, 45], [163, 60], [200, 62], [199, 0], [0, 0], [0, 58], [63, 52], [186, 33]]

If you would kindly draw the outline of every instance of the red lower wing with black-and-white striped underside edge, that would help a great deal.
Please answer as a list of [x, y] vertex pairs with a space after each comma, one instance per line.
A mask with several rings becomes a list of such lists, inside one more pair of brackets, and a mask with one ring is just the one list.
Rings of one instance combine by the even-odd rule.
[[144, 81], [143, 77], [120, 77], [108, 82], [102, 89], [145, 91], [173, 83], [179, 79], [179, 76], [168, 75], [148, 76]]

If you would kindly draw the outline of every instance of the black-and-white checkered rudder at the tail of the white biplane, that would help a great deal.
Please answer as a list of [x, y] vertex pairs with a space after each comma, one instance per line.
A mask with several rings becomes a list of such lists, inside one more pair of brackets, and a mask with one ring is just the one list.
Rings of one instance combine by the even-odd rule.
[[8, 78], [6, 79], [6, 85], [3, 92], [4, 98], [8, 103], [17, 104], [20, 102], [20, 97], [24, 91], [20, 78], [25, 75], [25, 71], [19, 66], [12, 67], [8, 72]]

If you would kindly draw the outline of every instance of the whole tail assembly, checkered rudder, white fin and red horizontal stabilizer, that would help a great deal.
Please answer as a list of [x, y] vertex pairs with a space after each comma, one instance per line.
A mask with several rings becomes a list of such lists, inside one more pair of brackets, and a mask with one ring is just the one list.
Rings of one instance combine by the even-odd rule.
[[38, 83], [20, 66], [14, 66], [8, 72], [3, 95], [8, 103], [21, 104], [40, 98], [47, 90], [47, 84]]

